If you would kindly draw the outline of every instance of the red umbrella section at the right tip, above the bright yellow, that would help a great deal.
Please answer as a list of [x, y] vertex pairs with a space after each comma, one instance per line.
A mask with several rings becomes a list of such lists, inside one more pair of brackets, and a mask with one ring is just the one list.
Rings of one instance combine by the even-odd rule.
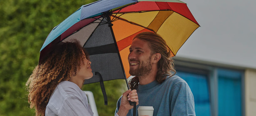
[[174, 12], [177, 12], [177, 13], [181, 14], [182, 16], [188, 18], [192, 22], [195, 22], [196, 24], [198, 24], [198, 22], [196, 21], [196, 19], [194, 18], [194, 16], [190, 12], [190, 10], [188, 9], [186, 4], [176, 3], [176, 2], [168, 2], [168, 5], [171, 7], [171, 9]]

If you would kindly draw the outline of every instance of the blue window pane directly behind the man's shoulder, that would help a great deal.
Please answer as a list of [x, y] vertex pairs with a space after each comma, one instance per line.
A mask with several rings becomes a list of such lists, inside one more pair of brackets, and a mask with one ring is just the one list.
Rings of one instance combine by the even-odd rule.
[[177, 75], [187, 82], [194, 95], [196, 115], [211, 116], [207, 77], [182, 71], [177, 71]]

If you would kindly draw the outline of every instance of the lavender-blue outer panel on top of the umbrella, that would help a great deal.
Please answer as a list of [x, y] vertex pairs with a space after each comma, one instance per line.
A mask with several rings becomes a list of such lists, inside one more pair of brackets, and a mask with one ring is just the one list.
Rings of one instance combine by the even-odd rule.
[[130, 3], [138, 2], [137, 0], [99, 0], [94, 3], [82, 6], [81, 20], [92, 15], [102, 13], [117, 7]]

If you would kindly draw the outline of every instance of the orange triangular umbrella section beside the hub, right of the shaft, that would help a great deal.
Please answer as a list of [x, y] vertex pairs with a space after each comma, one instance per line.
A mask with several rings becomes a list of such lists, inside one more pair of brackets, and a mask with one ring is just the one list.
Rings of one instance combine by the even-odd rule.
[[116, 20], [112, 22], [112, 24], [113, 24], [112, 26], [113, 32], [117, 42], [145, 29], [143, 27], [140, 27], [122, 20]]

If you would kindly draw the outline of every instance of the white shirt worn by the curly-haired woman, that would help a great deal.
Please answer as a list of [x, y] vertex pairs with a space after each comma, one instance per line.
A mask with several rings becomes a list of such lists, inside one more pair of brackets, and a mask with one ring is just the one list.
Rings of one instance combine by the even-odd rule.
[[52, 93], [45, 116], [93, 116], [93, 112], [86, 94], [75, 83], [63, 81]]

